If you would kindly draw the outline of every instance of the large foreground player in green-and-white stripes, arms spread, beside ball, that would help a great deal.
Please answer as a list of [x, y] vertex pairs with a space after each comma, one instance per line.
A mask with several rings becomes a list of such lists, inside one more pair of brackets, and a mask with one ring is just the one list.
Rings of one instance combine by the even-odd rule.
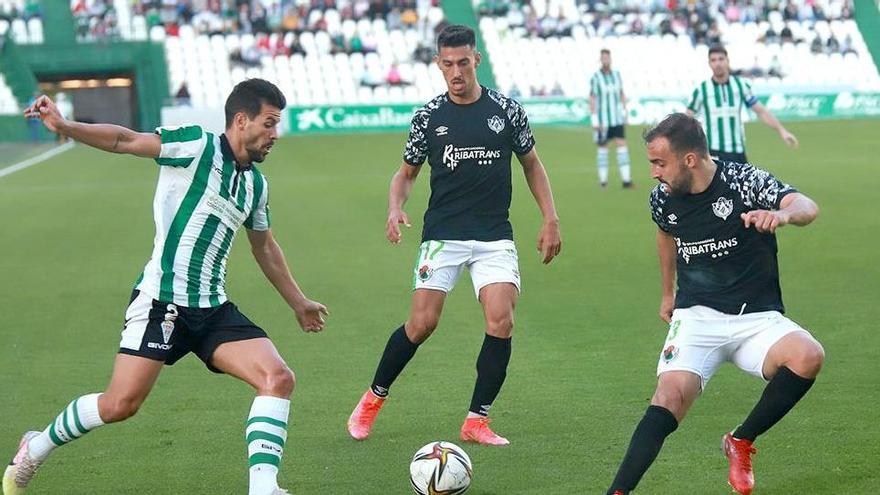
[[[64, 119], [41, 96], [25, 110], [52, 132], [112, 153], [156, 160], [153, 254], [135, 283], [110, 384], [75, 398], [43, 431], [27, 432], [3, 476], [4, 495], [21, 494], [58, 447], [108, 423], [130, 418], [162, 366], [195, 353], [213, 372], [256, 390], [246, 423], [249, 495], [288, 493], [277, 484], [294, 375], [266, 333], [226, 298], [229, 247], [239, 227], [267, 279], [306, 332], [324, 327], [324, 305], [308, 299], [290, 274], [269, 226], [262, 162], [278, 137], [284, 95], [262, 79], [239, 83], [226, 100], [226, 131], [199, 126], [138, 133]], [[228, 487], [214, 487], [222, 492]]]

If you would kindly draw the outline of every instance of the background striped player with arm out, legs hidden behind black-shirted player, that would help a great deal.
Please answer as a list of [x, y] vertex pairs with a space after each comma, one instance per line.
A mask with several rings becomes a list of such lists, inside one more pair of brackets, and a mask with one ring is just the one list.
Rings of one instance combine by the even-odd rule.
[[727, 50], [720, 45], [709, 48], [712, 77], [691, 93], [687, 114], [697, 116], [709, 142], [709, 154], [719, 160], [747, 163], [743, 107], [751, 108], [787, 145], [796, 148], [798, 140], [752, 93], [748, 81], [730, 73]]

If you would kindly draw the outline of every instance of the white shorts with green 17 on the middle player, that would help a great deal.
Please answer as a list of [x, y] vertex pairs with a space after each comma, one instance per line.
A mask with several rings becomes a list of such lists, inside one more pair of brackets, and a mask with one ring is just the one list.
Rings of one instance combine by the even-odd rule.
[[413, 290], [434, 289], [449, 292], [464, 267], [471, 274], [474, 293], [500, 282], [520, 290], [519, 257], [513, 241], [425, 241], [413, 268]]

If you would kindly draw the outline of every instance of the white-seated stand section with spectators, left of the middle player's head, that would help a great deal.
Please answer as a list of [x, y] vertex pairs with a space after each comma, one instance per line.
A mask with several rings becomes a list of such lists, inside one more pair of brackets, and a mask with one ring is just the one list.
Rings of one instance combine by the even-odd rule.
[[255, 3], [238, 15], [219, 8], [177, 12], [164, 23], [156, 22], [154, 7], [142, 6], [132, 21], [164, 42], [170, 92], [186, 84], [194, 107], [221, 106], [246, 77], [275, 82], [294, 105], [415, 102], [442, 92], [441, 76], [429, 70], [430, 55], [419, 57], [443, 21], [438, 6], [301, 3]]

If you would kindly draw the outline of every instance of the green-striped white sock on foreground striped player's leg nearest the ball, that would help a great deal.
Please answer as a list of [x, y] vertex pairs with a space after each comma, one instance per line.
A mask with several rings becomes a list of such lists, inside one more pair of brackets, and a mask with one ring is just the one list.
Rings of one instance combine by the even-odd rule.
[[290, 401], [260, 395], [254, 398], [245, 435], [250, 464], [248, 495], [268, 495], [278, 487], [278, 466], [287, 441]]

